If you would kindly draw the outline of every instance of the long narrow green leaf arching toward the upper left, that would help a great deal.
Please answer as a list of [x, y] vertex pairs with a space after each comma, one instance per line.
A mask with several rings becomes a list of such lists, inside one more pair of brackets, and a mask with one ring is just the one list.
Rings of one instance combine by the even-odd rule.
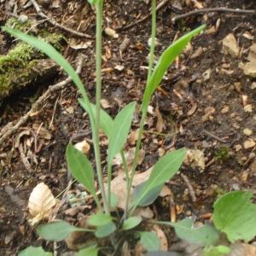
[[69, 62], [52, 45], [44, 42], [44, 40], [42, 39], [29, 36], [25, 33], [16, 31], [9, 27], [3, 26], [2, 28], [4, 31], [9, 32], [9, 34], [11, 34], [12, 36], [20, 38], [22, 41], [25, 41], [26, 44], [30, 44], [33, 47], [41, 50], [42, 52], [44, 52], [45, 55], [48, 55], [51, 59], [56, 61], [56, 63], [58, 63], [67, 72], [70, 78], [73, 79], [74, 84], [77, 85], [80, 93], [82, 94], [84, 99], [86, 99], [86, 104], [89, 104], [89, 99], [86, 95], [84, 85], [81, 79], [79, 78], [79, 75], [75, 72], [75, 70], [69, 64]]

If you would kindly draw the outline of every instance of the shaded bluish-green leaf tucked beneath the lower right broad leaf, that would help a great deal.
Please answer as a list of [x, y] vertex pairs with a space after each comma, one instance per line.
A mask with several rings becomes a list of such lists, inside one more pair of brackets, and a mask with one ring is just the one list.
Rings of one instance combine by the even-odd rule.
[[[146, 183], [147, 182], [141, 183], [133, 189], [133, 198], [137, 198], [137, 196], [141, 193]], [[163, 189], [164, 185], [165, 184], [160, 184], [160, 186], [157, 186], [154, 189], [148, 191], [148, 194], [143, 197], [143, 199], [139, 202], [138, 206], [147, 207], [151, 205], [160, 195], [160, 192]]]

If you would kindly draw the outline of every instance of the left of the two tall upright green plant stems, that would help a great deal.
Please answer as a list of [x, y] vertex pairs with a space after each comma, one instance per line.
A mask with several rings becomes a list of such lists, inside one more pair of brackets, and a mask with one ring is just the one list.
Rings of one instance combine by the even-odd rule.
[[104, 211], [109, 212], [108, 201], [106, 192], [104, 189], [102, 178], [102, 162], [100, 152], [100, 113], [101, 113], [101, 97], [102, 97], [102, 12], [103, 1], [96, 3], [96, 119], [95, 119], [95, 134], [93, 138], [95, 159], [96, 159], [96, 171], [99, 186], [102, 192], [102, 201]]

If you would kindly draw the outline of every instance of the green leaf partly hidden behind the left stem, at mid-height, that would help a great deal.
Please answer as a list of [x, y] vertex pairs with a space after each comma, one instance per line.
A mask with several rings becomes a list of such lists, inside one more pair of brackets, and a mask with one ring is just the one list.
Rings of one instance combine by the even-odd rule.
[[[83, 99], [79, 99], [79, 103], [82, 106], [82, 108], [84, 108], [84, 110], [86, 112], [88, 112], [88, 106], [84, 103]], [[96, 116], [96, 105], [90, 103], [90, 108], [93, 114], [93, 117], [95, 119]], [[101, 119], [100, 119], [100, 127], [102, 129], [102, 131], [104, 131], [104, 133], [109, 137], [110, 133], [112, 131], [112, 127], [113, 127], [113, 119], [111, 118], [111, 116], [101, 108]]]

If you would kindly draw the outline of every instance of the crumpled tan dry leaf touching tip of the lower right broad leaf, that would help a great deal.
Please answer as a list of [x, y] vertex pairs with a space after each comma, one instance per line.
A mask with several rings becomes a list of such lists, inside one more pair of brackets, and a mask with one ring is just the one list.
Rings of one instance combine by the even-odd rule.
[[199, 149], [187, 149], [184, 164], [192, 168], [200, 167], [202, 171], [205, 170], [206, 162], [203, 152]]

